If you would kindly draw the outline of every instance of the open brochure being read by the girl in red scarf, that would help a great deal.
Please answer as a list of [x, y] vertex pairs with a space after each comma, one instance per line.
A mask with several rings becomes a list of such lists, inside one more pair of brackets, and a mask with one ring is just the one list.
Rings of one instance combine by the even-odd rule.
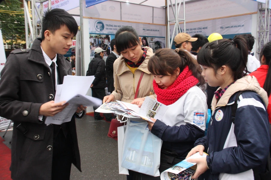
[[117, 101], [106, 102], [95, 111], [101, 113], [115, 113], [125, 117], [138, 117], [151, 121], [151, 117], [154, 119], [161, 119], [167, 111], [167, 108], [166, 105], [146, 97], [140, 108], [137, 105], [128, 102]]

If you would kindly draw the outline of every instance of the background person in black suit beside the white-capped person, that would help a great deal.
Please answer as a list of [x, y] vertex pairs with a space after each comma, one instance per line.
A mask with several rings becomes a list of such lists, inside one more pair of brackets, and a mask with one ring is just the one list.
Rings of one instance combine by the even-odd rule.
[[113, 72], [114, 72], [114, 68], [113, 68], [113, 64], [115, 62], [115, 60], [120, 57], [119, 53], [117, 52], [117, 48], [116, 48], [116, 41], [115, 39], [112, 39], [111, 43], [110, 43], [110, 47], [112, 52], [109, 54], [109, 56], [106, 59], [105, 62], [105, 69], [106, 69], [106, 78], [107, 78], [107, 87], [108, 87], [108, 92], [112, 93], [115, 88], [114, 88], [114, 76], [113, 76]]

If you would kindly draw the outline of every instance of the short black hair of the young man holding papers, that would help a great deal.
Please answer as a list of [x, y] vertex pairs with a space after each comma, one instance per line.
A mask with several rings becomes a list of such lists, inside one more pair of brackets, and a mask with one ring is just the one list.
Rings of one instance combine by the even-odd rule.
[[73, 35], [76, 35], [78, 25], [76, 20], [64, 9], [52, 9], [45, 12], [42, 18], [42, 40], [44, 40], [44, 32], [46, 30], [55, 33], [56, 30], [66, 25]]

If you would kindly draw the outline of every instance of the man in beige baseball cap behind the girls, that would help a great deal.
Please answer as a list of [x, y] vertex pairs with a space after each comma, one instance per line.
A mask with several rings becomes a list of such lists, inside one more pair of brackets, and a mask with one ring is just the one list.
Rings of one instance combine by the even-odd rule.
[[179, 49], [187, 50], [188, 52], [191, 52], [192, 49], [192, 43], [194, 41], [197, 41], [198, 38], [192, 38], [189, 34], [181, 32], [177, 34], [174, 38], [175, 47]]

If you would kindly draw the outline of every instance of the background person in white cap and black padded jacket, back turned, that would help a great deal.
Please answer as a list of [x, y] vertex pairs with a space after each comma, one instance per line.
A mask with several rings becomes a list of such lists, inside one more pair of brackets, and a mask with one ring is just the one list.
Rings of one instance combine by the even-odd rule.
[[[105, 62], [104, 62], [104, 51], [101, 47], [97, 47], [94, 52], [94, 58], [89, 63], [89, 69], [86, 76], [95, 76], [93, 83], [91, 84], [92, 97], [104, 99], [105, 87], [106, 87], [106, 74], [105, 74]], [[95, 121], [102, 120], [103, 117], [100, 113], [95, 112], [98, 107], [93, 106], [94, 119]], [[110, 114], [104, 114], [106, 120], [112, 119]], [[109, 117], [110, 116], [110, 117]]]

